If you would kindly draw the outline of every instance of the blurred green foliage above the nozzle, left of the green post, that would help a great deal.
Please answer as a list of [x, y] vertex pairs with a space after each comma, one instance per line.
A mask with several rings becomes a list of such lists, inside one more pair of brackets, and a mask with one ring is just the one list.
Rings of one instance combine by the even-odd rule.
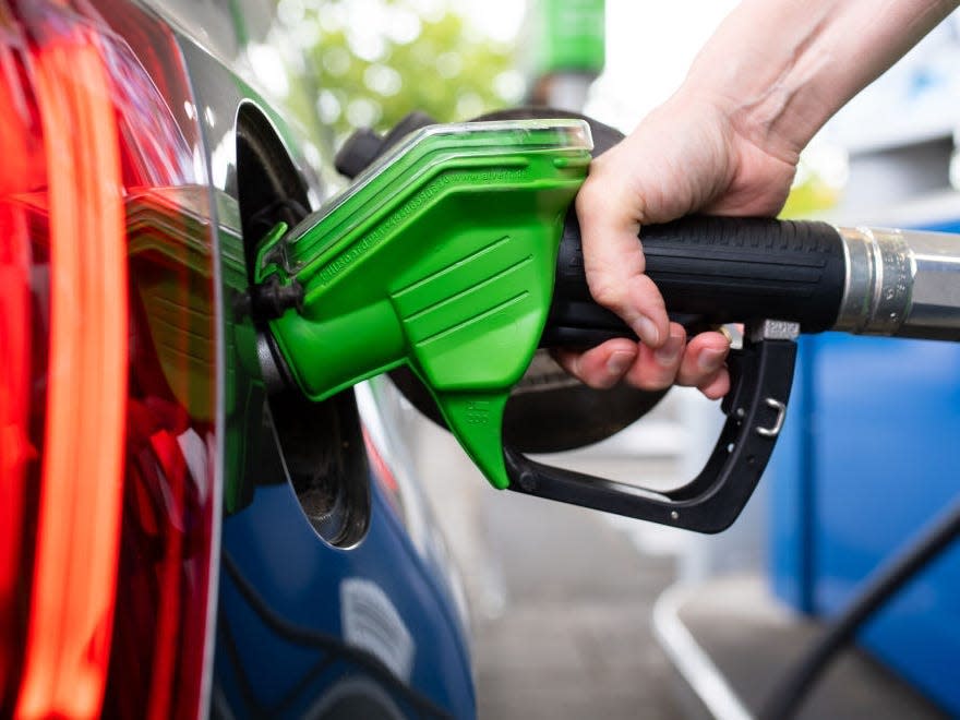
[[[443, 0], [280, 0], [315, 71], [314, 111], [339, 142], [387, 130], [411, 110], [442, 122], [516, 104], [515, 48], [484, 37]], [[293, 7], [296, 5], [296, 7]]]

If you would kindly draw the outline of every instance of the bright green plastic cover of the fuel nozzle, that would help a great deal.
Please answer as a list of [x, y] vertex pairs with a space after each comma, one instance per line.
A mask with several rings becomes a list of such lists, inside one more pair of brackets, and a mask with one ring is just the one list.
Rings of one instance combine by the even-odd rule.
[[497, 488], [503, 410], [537, 349], [563, 218], [590, 161], [579, 120], [432, 125], [257, 253], [257, 283], [299, 283], [271, 322], [321, 400], [407, 363]]

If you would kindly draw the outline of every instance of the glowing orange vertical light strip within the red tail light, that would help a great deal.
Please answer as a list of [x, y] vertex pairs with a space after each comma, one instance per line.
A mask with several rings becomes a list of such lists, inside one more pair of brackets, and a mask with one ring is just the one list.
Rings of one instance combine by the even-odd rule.
[[50, 347], [26, 658], [16, 716], [99, 715], [119, 557], [127, 256], [107, 69], [75, 29], [32, 53], [47, 156]]

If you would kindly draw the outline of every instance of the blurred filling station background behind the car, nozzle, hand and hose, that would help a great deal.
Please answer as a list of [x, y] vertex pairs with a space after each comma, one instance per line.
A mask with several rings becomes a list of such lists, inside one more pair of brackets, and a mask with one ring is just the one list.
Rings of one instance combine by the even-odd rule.
[[[525, 103], [623, 131], [665, 99], [727, 0], [280, 0], [339, 145], [410, 110], [465, 120]], [[298, 60], [300, 61], [300, 60]], [[960, 231], [960, 17], [814, 140], [787, 216]], [[334, 180], [337, 182], [337, 180]], [[341, 182], [341, 181], [340, 181]], [[801, 341], [784, 436], [735, 526], [686, 535], [490, 489], [388, 385], [411, 463], [461, 569], [485, 718], [745, 717], [960, 479], [960, 353], [947, 344]], [[675, 487], [719, 409], [672, 391], [619, 435], [552, 463]], [[812, 718], [960, 716], [960, 554], [861, 635]]]

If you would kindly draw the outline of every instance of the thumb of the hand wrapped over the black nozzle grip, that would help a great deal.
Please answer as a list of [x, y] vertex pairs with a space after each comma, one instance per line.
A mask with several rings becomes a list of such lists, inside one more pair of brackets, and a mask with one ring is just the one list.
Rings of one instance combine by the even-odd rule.
[[669, 337], [667, 309], [644, 275], [641, 213], [617, 165], [616, 148], [595, 160], [577, 194], [587, 281], [597, 302], [623, 317], [644, 345], [658, 348]]

